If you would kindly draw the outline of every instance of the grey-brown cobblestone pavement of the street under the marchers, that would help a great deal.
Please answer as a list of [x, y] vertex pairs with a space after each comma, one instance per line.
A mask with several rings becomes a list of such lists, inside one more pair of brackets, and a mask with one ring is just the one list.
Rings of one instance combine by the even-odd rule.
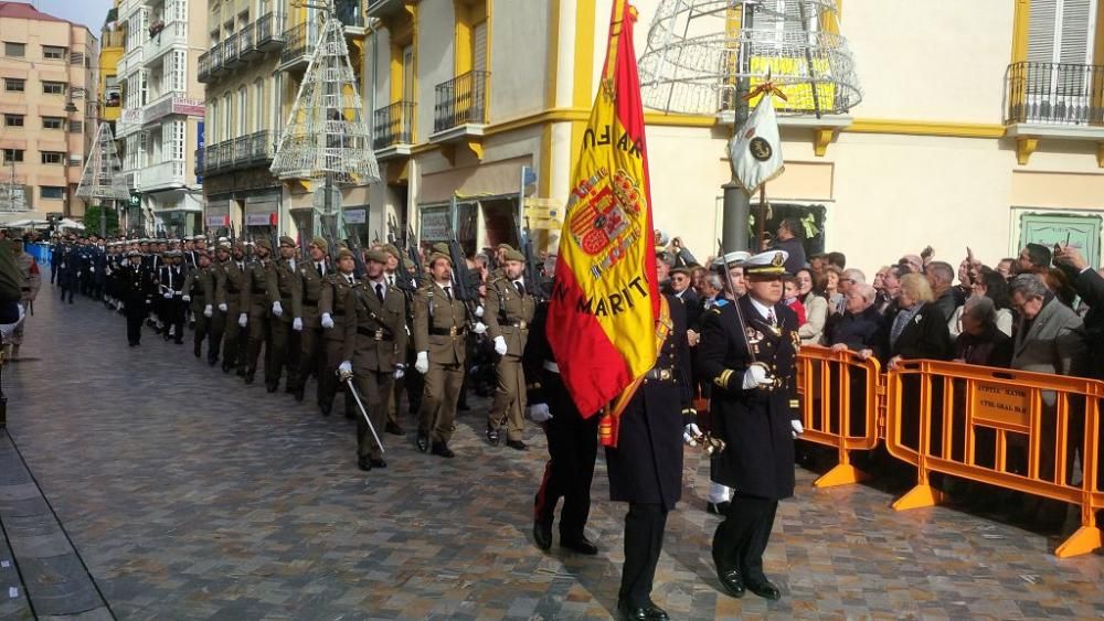
[[[542, 554], [530, 507], [543, 438], [530, 429], [526, 453], [487, 447], [486, 404], [459, 419], [457, 459], [388, 436], [390, 467], [362, 473], [353, 424], [319, 416], [309, 390], [296, 404], [245, 386], [152, 333], [129, 349], [120, 317], [52, 295], [26, 330], [23, 355], [36, 360], [3, 374], [9, 428], [118, 618], [614, 610], [625, 506], [606, 500], [601, 456], [588, 527], [599, 556]], [[654, 593], [675, 619], [1104, 615], [1098, 555], [1059, 560], [1054, 538], [953, 507], [894, 513], [873, 486], [814, 490], [806, 470], [766, 558], [784, 598], [728, 598], [710, 563], [709, 465], [687, 454]]]

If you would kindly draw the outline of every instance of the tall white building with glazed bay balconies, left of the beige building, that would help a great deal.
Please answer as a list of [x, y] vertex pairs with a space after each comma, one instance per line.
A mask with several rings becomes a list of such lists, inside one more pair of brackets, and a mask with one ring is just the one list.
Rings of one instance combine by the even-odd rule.
[[121, 0], [126, 47], [117, 65], [123, 111], [116, 137], [124, 173], [140, 196], [144, 228], [191, 235], [202, 228], [203, 188], [195, 151], [203, 137], [206, 50], [202, 0]]

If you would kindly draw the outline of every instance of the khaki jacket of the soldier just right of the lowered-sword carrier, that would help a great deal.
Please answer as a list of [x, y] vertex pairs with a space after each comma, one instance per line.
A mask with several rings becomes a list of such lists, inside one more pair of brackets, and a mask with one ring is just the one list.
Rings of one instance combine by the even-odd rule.
[[435, 364], [464, 364], [468, 309], [432, 282], [414, 296], [414, 350]]

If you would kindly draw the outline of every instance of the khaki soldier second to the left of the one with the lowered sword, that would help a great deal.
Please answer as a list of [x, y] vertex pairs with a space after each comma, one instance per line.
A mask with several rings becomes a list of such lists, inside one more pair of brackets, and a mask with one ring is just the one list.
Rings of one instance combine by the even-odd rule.
[[[302, 318], [302, 330], [299, 332], [299, 373], [294, 378], [288, 377], [288, 388], [297, 401], [302, 400], [307, 378], [311, 374], [321, 377], [319, 366], [323, 356], [319, 351], [322, 346], [322, 324], [318, 304], [322, 300], [326, 276], [333, 271], [333, 268], [326, 263], [326, 253], [329, 249], [326, 239], [315, 237], [307, 245], [307, 249], [310, 253], [310, 260], [298, 266], [300, 286], [295, 289], [300, 309], [298, 317]], [[317, 394], [320, 395], [321, 392], [318, 390]]]

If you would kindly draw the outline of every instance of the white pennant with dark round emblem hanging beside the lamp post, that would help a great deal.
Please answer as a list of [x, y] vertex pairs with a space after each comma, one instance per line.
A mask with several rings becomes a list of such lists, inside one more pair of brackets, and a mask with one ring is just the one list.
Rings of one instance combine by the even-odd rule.
[[732, 174], [749, 194], [782, 174], [782, 140], [771, 89], [765, 89], [752, 116], [729, 142]]

